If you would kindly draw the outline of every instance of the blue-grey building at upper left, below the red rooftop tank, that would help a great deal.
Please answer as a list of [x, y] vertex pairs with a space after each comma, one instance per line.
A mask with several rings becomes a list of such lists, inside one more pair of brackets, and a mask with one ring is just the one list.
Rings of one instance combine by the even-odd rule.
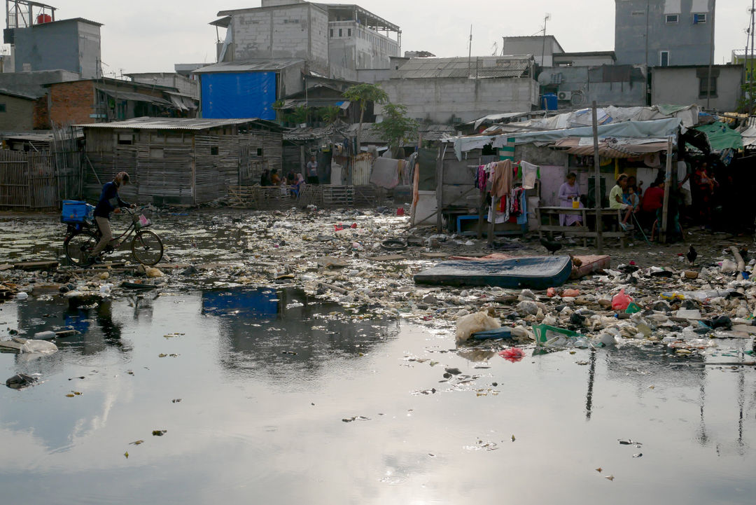
[[102, 75], [101, 23], [81, 17], [5, 30], [16, 72], [67, 70], [82, 79]]

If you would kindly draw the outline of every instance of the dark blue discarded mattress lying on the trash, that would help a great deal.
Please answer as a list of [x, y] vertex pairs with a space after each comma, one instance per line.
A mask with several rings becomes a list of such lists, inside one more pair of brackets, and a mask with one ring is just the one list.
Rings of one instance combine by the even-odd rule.
[[416, 283], [442, 286], [529, 287], [561, 286], [572, 273], [569, 256], [521, 256], [511, 259], [441, 262], [414, 276]]

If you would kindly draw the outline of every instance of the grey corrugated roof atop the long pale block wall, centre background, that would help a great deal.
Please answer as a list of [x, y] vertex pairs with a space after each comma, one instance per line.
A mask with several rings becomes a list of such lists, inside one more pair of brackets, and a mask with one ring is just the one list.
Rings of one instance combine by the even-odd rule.
[[392, 79], [522, 77], [530, 67], [529, 56], [411, 58], [393, 72]]

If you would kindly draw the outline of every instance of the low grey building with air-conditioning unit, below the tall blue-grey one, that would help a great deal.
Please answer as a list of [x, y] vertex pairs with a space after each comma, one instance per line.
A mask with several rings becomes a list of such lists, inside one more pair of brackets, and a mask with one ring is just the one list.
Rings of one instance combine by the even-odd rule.
[[538, 75], [541, 94], [553, 93], [559, 109], [645, 106], [648, 70], [643, 65], [605, 64], [596, 67], [547, 67]]

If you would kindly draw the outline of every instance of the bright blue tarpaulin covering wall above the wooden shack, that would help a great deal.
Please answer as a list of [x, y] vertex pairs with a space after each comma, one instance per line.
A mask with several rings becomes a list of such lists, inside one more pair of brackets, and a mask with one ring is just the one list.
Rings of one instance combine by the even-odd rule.
[[202, 116], [206, 119], [276, 119], [275, 72], [204, 73]]

